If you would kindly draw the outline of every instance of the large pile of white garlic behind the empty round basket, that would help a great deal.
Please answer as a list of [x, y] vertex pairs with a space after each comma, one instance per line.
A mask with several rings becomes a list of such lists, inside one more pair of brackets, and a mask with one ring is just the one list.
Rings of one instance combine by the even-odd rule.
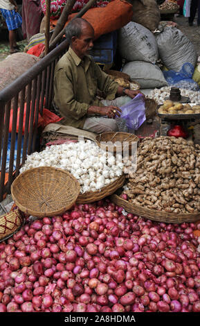
[[28, 155], [20, 173], [38, 166], [53, 166], [69, 171], [80, 183], [81, 194], [97, 191], [122, 175], [122, 155], [116, 157], [100, 149], [93, 141], [46, 147]]

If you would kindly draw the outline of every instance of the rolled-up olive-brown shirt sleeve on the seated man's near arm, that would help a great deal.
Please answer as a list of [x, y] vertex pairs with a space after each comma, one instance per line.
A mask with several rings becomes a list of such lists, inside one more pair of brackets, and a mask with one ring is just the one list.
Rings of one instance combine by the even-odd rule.
[[87, 114], [89, 105], [75, 101], [73, 83], [64, 69], [58, 69], [54, 76], [55, 105], [62, 117], [79, 120]]

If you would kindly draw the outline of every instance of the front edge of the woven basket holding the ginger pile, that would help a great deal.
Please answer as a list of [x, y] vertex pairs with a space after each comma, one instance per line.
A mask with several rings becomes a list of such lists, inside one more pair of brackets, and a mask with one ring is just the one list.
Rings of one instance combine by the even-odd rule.
[[149, 218], [149, 220], [163, 223], [191, 223], [200, 220], [199, 214], [175, 214], [175, 213], [167, 213], [167, 212], [159, 212], [156, 209], [149, 209], [145, 207], [141, 207], [138, 205], [134, 205], [129, 203], [127, 200], [120, 198], [120, 196], [113, 194], [111, 196], [111, 200], [116, 205], [123, 207], [125, 211], [128, 213], [136, 214], [138, 216], [142, 216], [145, 218]]

